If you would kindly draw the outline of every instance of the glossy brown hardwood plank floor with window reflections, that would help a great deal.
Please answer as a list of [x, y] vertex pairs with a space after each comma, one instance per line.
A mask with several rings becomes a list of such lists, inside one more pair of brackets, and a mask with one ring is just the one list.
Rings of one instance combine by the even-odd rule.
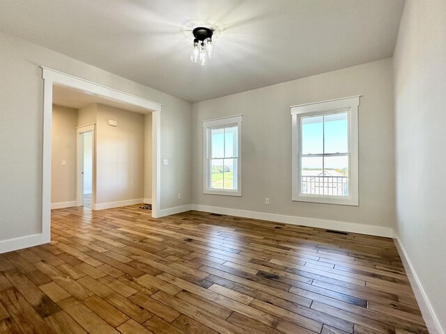
[[392, 239], [138, 207], [0, 255], [0, 333], [428, 333]]

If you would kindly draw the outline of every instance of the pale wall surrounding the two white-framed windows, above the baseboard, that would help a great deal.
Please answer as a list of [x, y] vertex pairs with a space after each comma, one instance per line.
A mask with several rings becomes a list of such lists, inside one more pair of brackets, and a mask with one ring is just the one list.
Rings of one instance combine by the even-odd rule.
[[[362, 95], [359, 207], [292, 202], [289, 106], [352, 95]], [[243, 196], [204, 195], [201, 122], [238, 114], [243, 114]], [[391, 231], [395, 220], [393, 122], [391, 59], [198, 102], [193, 105], [193, 202]], [[266, 197], [270, 205], [264, 204]]]

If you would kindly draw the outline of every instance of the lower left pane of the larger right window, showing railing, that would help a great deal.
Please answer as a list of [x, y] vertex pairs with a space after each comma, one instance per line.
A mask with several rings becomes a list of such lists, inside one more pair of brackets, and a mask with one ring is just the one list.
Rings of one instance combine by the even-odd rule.
[[301, 193], [323, 194], [323, 157], [302, 157]]

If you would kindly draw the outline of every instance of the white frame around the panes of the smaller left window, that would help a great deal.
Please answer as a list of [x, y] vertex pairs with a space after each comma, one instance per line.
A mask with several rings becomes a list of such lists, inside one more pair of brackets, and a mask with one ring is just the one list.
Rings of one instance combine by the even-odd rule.
[[[237, 189], [213, 189], [210, 187], [212, 181], [210, 172], [212, 143], [210, 138], [211, 129], [223, 127], [238, 127], [238, 157], [237, 157]], [[242, 115], [217, 118], [203, 121], [203, 193], [210, 195], [242, 196]], [[229, 158], [228, 158], [229, 159]]]

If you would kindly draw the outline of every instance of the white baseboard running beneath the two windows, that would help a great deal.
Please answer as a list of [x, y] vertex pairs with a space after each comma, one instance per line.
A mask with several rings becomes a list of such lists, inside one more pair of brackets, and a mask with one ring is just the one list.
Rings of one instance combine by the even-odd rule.
[[261, 219], [263, 221], [275, 221], [291, 225], [303, 225], [312, 228], [327, 228], [360, 234], [376, 235], [378, 237], [393, 237], [393, 229], [384, 226], [364, 225], [359, 223], [347, 223], [345, 221], [328, 221], [325, 219], [305, 218], [298, 216], [286, 216], [284, 214], [269, 214], [267, 212], [255, 212], [240, 209], [229, 209], [227, 207], [211, 207], [208, 205], [192, 205], [192, 210], [202, 212], [213, 212], [214, 214], [229, 214], [244, 218]]

